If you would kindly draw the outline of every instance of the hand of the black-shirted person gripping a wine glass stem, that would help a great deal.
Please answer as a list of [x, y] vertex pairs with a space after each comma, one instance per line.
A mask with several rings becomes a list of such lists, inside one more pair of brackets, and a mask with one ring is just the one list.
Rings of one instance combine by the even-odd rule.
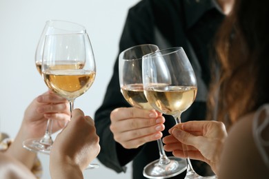
[[110, 130], [114, 140], [126, 149], [135, 149], [144, 143], [162, 137], [165, 118], [155, 110], [120, 107], [110, 114]]

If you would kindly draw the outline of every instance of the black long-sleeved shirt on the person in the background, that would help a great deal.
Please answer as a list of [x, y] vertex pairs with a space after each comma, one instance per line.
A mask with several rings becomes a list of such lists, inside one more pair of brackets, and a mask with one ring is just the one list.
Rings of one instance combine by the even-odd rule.
[[[143, 0], [128, 11], [119, 52], [144, 43], [156, 44], [160, 49], [183, 47], [192, 63], [198, 93], [195, 103], [181, 115], [182, 122], [205, 119], [210, 63], [213, 60], [210, 51], [223, 17], [212, 0]], [[110, 112], [117, 107], [130, 107], [120, 92], [118, 58], [106, 96], [94, 116], [101, 145], [97, 158], [103, 165], [117, 172], [126, 171], [125, 165], [133, 161], [133, 178], [144, 178], [143, 167], [159, 158], [157, 141], [146, 143], [138, 149], [125, 149], [115, 142], [109, 127]], [[166, 129], [163, 136], [168, 135], [168, 129], [175, 125], [172, 116], [165, 117]], [[168, 152], [166, 154], [172, 155]], [[192, 165], [202, 176], [212, 174], [204, 162], [192, 160]], [[175, 178], [184, 178], [185, 175], [182, 173]]]

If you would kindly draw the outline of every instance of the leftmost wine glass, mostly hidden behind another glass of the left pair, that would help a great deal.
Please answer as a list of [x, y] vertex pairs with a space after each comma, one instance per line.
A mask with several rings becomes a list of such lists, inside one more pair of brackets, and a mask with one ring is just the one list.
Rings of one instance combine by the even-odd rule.
[[[86, 32], [86, 28], [77, 23], [61, 20], [49, 20], [46, 21], [43, 32], [40, 36], [37, 50], [35, 53], [34, 63], [37, 67], [37, 71], [41, 74], [41, 63], [43, 56], [44, 41], [47, 34], [73, 34]], [[53, 144], [52, 140], [52, 120], [49, 118], [46, 126], [45, 134], [42, 138], [31, 138], [23, 141], [23, 147], [43, 154], [50, 154], [50, 149]]]

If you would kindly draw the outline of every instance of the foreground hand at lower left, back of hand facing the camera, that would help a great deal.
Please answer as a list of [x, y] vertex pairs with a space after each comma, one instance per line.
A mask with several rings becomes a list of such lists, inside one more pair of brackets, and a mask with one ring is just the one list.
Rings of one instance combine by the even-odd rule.
[[79, 178], [99, 151], [94, 121], [80, 109], [74, 109], [70, 122], [57, 135], [50, 151], [52, 178]]

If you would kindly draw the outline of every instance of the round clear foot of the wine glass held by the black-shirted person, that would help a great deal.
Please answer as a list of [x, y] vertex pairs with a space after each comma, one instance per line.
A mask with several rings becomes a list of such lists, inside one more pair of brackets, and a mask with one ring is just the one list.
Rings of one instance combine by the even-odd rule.
[[176, 157], [168, 158], [170, 162], [167, 165], [160, 165], [159, 159], [150, 162], [144, 167], [143, 176], [146, 178], [170, 178], [186, 170], [186, 160]]

